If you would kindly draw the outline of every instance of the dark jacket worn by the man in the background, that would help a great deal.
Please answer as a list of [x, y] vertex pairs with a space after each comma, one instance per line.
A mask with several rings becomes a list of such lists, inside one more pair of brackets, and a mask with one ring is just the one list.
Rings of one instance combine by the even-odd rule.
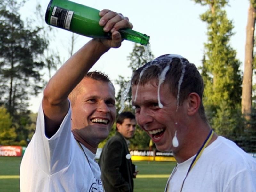
[[106, 192], [133, 191], [135, 166], [126, 155], [130, 154], [124, 137], [116, 132], [103, 147], [99, 159], [101, 179]]

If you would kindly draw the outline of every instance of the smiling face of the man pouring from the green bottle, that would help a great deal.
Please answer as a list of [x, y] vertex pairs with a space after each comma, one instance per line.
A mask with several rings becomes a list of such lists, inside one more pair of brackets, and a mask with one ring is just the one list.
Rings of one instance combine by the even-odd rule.
[[112, 84], [84, 78], [72, 103], [72, 130], [97, 147], [107, 138], [116, 118], [115, 91]]

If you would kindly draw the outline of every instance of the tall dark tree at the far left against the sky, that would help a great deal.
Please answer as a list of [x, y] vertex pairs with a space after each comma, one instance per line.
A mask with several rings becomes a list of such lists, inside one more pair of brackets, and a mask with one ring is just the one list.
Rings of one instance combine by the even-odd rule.
[[37, 58], [47, 43], [39, 36], [41, 28], [32, 29], [20, 19], [23, 3], [0, 0], [0, 102], [11, 116], [25, 112], [30, 94], [38, 94], [43, 86], [39, 71], [45, 64]]

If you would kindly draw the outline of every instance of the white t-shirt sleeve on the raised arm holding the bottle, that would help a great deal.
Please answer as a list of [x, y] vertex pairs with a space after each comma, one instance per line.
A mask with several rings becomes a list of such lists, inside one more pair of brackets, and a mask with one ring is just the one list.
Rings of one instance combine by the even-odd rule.
[[[70, 106], [70, 102], [69, 102]], [[54, 174], [67, 167], [72, 158], [71, 108], [64, 117], [60, 128], [51, 137], [45, 135], [44, 112], [39, 107], [36, 132], [31, 140], [35, 161], [46, 174]]]

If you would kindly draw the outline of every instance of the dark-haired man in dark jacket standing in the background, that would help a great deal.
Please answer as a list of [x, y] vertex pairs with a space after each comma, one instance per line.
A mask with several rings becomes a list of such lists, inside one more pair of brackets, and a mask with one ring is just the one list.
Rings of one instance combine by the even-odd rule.
[[138, 171], [132, 164], [128, 149], [129, 139], [135, 133], [135, 116], [125, 111], [116, 121], [116, 134], [105, 144], [100, 155], [101, 178], [106, 191], [133, 191], [133, 178]]

